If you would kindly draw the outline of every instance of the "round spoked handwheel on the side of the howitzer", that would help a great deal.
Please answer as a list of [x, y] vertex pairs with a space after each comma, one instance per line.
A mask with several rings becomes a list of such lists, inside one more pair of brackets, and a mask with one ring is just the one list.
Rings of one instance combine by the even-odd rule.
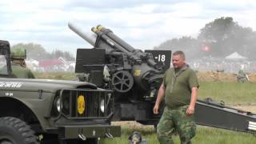
[[120, 93], [126, 93], [134, 86], [133, 76], [125, 70], [120, 70], [112, 75], [112, 86]]

